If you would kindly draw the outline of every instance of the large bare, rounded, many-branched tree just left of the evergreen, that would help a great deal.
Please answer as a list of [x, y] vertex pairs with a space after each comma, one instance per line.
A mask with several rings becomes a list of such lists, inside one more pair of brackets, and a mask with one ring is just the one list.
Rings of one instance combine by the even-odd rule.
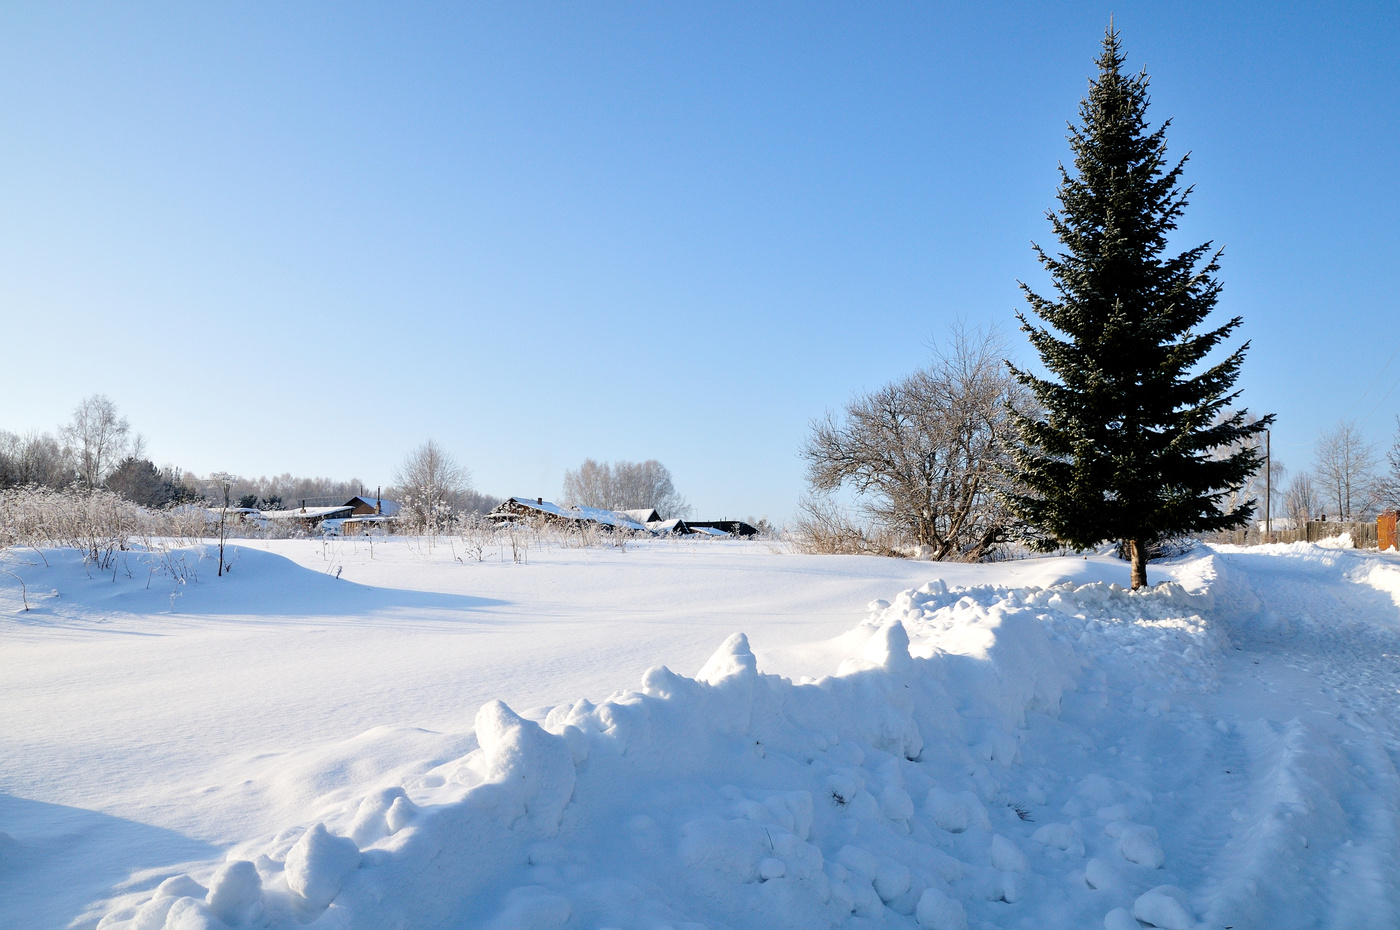
[[988, 557], [1011, 522], [998, 494], [1009, 410], [1026, 403], [994, 331], [955, 328], [925, 368], [815, 420], [802, 450], [815, 494], [854, 492], [876, 534], [931, 546], [934, 559]]

